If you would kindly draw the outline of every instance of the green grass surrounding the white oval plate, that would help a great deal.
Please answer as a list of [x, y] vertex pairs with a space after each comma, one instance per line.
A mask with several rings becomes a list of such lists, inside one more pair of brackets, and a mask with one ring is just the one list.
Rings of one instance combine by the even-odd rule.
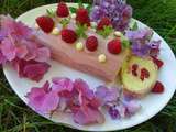
[[[56, 1], [0, 0], [0, 13], [10, 13], [15, 18], [32, 8]], [[87, 1], [91, 2], [91, 0]], [[166, 40], [176, 54], [176, 0], [128, 0], [128, 2], [134, 8], [133, 16], [153, 28]], [[0, 70], [0, 132], [67, 131], [77, 132], [55, 124], [26, 107], [11, 90], [2, 70]], [[145, 123], [121, 132], [176, 132], [176, 95], [157, 116]]]

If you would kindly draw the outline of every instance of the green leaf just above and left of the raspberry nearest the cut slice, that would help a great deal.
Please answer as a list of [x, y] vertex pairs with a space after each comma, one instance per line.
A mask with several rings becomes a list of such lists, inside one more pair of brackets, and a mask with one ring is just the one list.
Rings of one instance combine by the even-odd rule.
[[113, 32], [112, 26], [103, 26], [103, 30], [100, 30], [97, 33], [103, 37], [108, 37], [109, 34], [111, 34], [112, 32]]

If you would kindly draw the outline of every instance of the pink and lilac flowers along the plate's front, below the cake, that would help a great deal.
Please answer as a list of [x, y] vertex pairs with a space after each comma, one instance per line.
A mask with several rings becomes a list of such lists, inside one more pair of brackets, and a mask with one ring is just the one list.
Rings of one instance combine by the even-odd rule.
[[109, 110], [112, 119], [133, 114], [140, 109], [133, 99], [123, 99], [118, 88], [99, 86], [94, 91], [82, 79], [53, 78], [51, 86], [46, 81], [41, 88], [33, 87], [26, 97], [37, 112], [69, 112], [78, 124], [103, 123], [101, 107]]

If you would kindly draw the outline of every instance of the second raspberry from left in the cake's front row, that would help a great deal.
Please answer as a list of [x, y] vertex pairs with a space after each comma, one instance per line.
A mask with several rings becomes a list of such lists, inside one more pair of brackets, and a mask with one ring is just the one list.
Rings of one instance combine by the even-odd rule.
[[62, 40], [66, 43], [73, 44], [77, 40], [77, 34], [73, 30], [64, 29], [62, 30]]

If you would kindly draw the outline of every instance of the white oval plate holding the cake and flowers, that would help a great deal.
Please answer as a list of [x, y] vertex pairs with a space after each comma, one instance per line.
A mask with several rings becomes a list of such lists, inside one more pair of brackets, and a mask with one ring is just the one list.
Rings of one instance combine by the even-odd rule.
[[[75, 6], [75, 4], [69, 4], [69, 6]], [[16, 20], [22, 21], [28, 25], [33, 25], [36, 16], [44, 14], [46, 9], [55, 9], [55, 8], [56, 8], [56, 4], [40, 7], [29, 12], [25, 12], [24, 14], [20, 15]], [[140, 28], [146, 26], [139, 21], [138, 23]], [[160, 72], [158, 79], [164, 84], [165, 92], [162, 95], [150, 94], [146, 98], [142, 99], [141, 100], [142, 109], [136, 114], [134, 114], [129, 119], [121, 119], [121, 120], [111, 120], [110, 117], [106, 114], [106, 122], [103, 124], [95, 124], [89, 127], [84, 127], [84, 125], [74, 123], [70, 116], [68, 114], [57, 113], [57, 114], [54, 114], [52, 119], [50, 119], [48, 117], [45, 117], [45, 118], [54, 122], [63, 123], [78, 130], [112, 131], [112, 130], [122, 130], [122, 129], [134, 127], [157, 114], [167, 105], [167, 102], [170, 100], [170, 98], [174, 95], [174, 91], [176, 88], [176, 59], [169, 46], [157, 33], [154, 33], [153, 38], [162, 40], [162, 51], [161, 51], [160, 57], [164, 61], [165, 65]], [[42, 86], [45, 80], [51, 80], [51, 78], [55, 76], [67, 76], [73, 79], [80, 77], [86, 81], [88, 81], [89, 85], [92, 87], [103, 84], [103, 81], [98, 78], [70, 69], [57, 62], [51, 61], [51, 65], [52, 67], [50, 72], [44, 76], [44, 78], [38, 84], [31, 81], [29, 79], [19, 78], [16, 72], [13, 70], [12, 67], [9, 65], [6, 65], [3, 67], [3, 70], [12, 89], [25, 103], [28, 103], [28, 99], [25, 98], [25, 95], [28, 91], [30, 91], [31, 87]]]

